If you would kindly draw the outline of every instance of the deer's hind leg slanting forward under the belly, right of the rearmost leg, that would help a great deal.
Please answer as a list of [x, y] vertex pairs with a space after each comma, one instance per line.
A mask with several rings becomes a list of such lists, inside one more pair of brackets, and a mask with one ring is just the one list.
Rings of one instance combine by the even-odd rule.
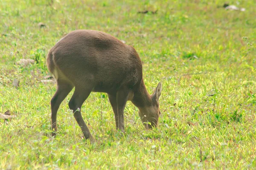
[[69, 105], [69, 108], [73, 110], [76, 122], [78, 123], [79, 127], [84, 133], [85, 139], [90, 139], [91, 141], [93, 141], [93, 136], [90, 134], [90, 130], [88, 129], [81, 115], [81, 106], [83, 105], [87, 97], [90, 95], [90, 92], [91, 92], [91, 88], [79, 89], [75, 87], [75, 92], [72, 98], [70, 99], [70, 102], [68, 103], [68, 105]]

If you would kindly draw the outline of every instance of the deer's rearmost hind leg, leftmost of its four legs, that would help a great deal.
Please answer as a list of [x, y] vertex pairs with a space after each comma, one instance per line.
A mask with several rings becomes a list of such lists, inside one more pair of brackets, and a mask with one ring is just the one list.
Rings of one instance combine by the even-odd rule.
[[67, 97], [70, 91], [73, 89], [73, 85], [63, 80], [57, 80], [57, 91], [51, 99], [51, 111], [52, 111], [52, 136], [56, 135], [57, 131], [57, 112], [61, 105], [61, 102]]

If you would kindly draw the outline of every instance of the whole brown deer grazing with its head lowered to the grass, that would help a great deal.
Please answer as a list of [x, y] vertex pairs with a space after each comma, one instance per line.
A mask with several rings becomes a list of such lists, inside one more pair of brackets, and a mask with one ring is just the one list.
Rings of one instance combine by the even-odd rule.
[[116, 120], [116, 130], [124, 132], [124, 109], [130, 100], [139, 109], [146, 128], [157, 126], [162, 84], [148, 94], [142, 76], [142, 62], [136, 50], [100, 31], [76, 30], [59, 40], [49, 51], [47, 67], [57, 82], [51, 99], [52, 136], [61, 102], [75, 87], [68, 103], [84, 137], [93, 140], [81, 116], [81, 106], [89, 94], [108, 94]]

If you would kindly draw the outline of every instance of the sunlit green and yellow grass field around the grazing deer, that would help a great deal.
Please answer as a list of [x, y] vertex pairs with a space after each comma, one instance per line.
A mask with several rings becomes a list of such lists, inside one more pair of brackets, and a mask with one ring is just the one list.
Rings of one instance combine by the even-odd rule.
[[[0, 169], [255, 169], [256, 2], [229, 3], [246, 10], [221, 0], [1, 0], [0, 113], [15, 118], [0, 120]], [[46, 56], [76, 29], [134, 46], [148, 91], [163, 84], [158, 128], [145, 130], [128, 102], [120, 136], [107, 94], [92, 93], [81, 108], [96, 139], [87, 144], [72, 91], [50, 136]]]

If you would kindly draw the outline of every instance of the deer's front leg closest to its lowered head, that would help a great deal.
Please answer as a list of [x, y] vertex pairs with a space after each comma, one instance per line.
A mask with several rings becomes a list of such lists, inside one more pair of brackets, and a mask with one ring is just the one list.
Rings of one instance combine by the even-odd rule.
[[118, 113], [118, 129], [125, 132], [124, 110], [128, 100], [129, 91], [125, 88], [119, 89], [116, 94], [117, 113]]

